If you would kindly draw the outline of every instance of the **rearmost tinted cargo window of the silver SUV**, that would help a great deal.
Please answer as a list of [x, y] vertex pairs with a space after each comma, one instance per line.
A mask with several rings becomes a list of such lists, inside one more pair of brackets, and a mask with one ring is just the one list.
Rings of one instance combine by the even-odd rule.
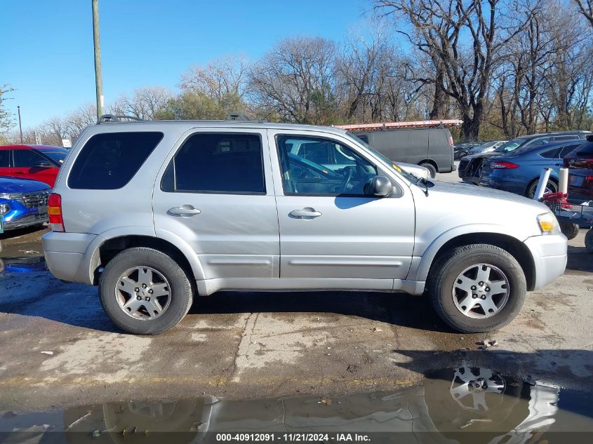
[[163, 133], [103, 133], [82, 147], [68, 177], [73, 189], [124, 187], [163, 138]]

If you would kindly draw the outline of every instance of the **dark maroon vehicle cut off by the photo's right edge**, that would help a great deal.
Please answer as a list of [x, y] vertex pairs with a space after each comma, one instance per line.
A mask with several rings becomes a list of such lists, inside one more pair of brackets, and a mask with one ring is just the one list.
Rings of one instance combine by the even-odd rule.
[[575, 200], [593, 199], [593, 135], [587, 142], [564, 157], [564, 168], [568, 170], [568, 197]]

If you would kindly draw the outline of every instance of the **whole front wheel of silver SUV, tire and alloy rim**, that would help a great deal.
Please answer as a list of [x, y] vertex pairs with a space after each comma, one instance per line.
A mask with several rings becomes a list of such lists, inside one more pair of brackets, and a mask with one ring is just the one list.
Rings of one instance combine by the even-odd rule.
[[461, 332], [488, 332], [507, 325], [523, 306], [527, 285], [519, 262], [488, 244], [449, 250], [427, 281], [434, 309]]

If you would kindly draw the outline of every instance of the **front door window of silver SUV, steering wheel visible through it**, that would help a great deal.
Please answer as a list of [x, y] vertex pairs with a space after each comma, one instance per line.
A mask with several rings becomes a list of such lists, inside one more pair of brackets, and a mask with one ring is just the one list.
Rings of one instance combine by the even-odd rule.
[[277, 135], [285, 194], [362, 196], [377, 168], [349, 147], [321, 137]]

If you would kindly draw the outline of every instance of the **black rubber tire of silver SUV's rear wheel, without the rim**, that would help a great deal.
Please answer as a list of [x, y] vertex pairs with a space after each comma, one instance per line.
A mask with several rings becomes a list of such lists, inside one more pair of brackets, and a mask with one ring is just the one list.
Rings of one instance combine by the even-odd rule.
[[[171, 302], [154, 319], [137, 319], [124, 313], [116, 300], [116, 285], [121, 274], [133, 267], [151, 267], [169, 283]], [[177, 325], [192, 306], [192, 284], [185, 271], [170, 256], [153, 248], [128, 248], [105, 267], [99, 281], [101, 304], [112, 322], [121, 330], [136, 335], [159, 335]]]

